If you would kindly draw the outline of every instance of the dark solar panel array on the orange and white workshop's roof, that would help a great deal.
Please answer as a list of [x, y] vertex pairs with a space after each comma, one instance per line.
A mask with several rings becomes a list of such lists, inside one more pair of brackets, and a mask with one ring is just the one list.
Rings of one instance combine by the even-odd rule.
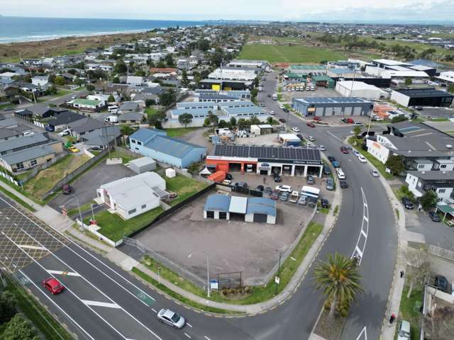
[[320, 150], [306, 147], [216, 145], [214, 156], [321, 162]]

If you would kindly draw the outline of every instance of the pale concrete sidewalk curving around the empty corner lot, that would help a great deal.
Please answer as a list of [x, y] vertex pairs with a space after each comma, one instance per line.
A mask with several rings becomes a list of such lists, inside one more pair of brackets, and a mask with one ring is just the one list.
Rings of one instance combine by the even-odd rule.
[[[189, 300], [193, 300], [194, 302], [197, 302], [200, 305], [216, 307], [222, 310], [230, 310], [233, 312], [246, 314], [257, 314], [259, 312], [263, 312], [272, 307], [275, 307], [279, 303], [284, 302], [289, 297], [291, 297], [294, 291], [297, 290], [299, 282], [302, 280], [302, 278], [304, 278], [306, 271], [311, 266], [312, 261], [314, 261], [316, 255], [319, 252], [319, 249], [321, 249], [321, 246], [325, 242], [326, 237], [331, 232], [331, 229], [333, 228], [338, 218], [338, 215], [336, 216], [332, 215], [332, 210], [330, 211], [330, 214], [326, 216], [321, 234], [316, 239], [311, 249], [309, 249], [308, 253], [304, 257], [304, 260], [301, 262], [299, 268], [297, 269], [294, 276], [288, 283], [287, 287], [284, 288], [284, 290], [282, 290], [282, 292], [279, 293], [279, 295], [273, 297], [270, 300], [260, 302], [255, 305], [233, 305], [228, 303], [206, 300], [204, 297], [199, 297], [198, 295], [194, 295], [192, 293], [187, 292], [186, 290], [183, 290], [182, 288], [179, 288], [177, 285], [174, 285], [168, 280], [158, 278], [156, 273], [154, 273], [147, 267], [143, 266], [142, 263], [135, 261], [135, 259], [132, 259], [130, 256], [124, 254], [118, 249], [106, 246], [106, 244], [98, 242], [96, 241], [96, 239], [92, 239], [92, 237], [88, 237], [83, 232], [79, 232], [78, 229], [73, 228], [72, 225], [74, 224], [74, 221], [72, 221], [69, 217], [62, 215], [60, 212], [57, 212], [57, 210], [50, 208], [48, 205], [41, 206], [34, 203], [33, 200], [27, 198], [26, 196], [23, 196], [21, 193], [14, 190], [14, 188], [11, 188], [10, 186], [6, 185], [6, 183], [4, 183], [3, 181], [0, 181], [0, 186], [6, 188], [6, 190], [10, 191], [14, 195], [18, 196], [18, 198], [21, 198], [21, 200], [25, 201], [33, 208], [35, 208], [36, 212], [33, 212], [33, 215], [35, 215], [35, 217], [38, 217], [40, 220], [42, 220], [47, 225], [49, 225], [53, 229], [56, 229], [59, 232], [67, 231], [70, 234], [72, 234], [72, 236], [75, 237], [77, 240], [80, 240], [85, 244], [88, 244], [89, 246], [93, 246], [95, 249], [100, 249], [101, 251], [106, 252], [105, 254], [106, 258], [116, 263], [118, 266], [121, 266], [123, 270], [131, 271], [131, 269], [135, 266], [140, 271], [143, 271], [153, 279], [160, 280], [160, 283], [165, 285], [167, 288], [170, 288], [179, 295], [182, 295], [183, 297], [186, 297]], [[341, 190], [338, 189], [334, 196], [332, 207], [336, 207], [336, 205], [340, 206], [341, 200], [342, 193]]]

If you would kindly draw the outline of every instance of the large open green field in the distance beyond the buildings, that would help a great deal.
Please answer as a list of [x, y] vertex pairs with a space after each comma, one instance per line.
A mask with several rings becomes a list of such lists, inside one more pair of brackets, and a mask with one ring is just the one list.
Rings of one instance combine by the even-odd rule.
[[345, 55], [335, 50], [304, 45], [244, 45], [238, 59], [267, 60], [268, 62], [316, 62], [343, 60]]

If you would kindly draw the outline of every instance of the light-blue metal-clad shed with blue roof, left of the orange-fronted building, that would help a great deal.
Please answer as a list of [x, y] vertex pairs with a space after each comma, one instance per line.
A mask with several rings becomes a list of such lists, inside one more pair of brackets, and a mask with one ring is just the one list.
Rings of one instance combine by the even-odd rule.
[[168, 137], [165, 131], [156, 129], [139, 129], [129, 142], [131, 151], [177, 168], [201, 162], [206, 155], [205, 147]]

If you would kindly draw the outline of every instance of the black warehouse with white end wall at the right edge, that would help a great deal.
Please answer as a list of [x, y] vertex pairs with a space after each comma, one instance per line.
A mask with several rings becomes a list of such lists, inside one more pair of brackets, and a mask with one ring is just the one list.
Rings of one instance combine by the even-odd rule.
[[391, 100], [402, 106], [438, 106], [449, 108], [453, 104], [454, 95], [448, 92], [430, 89], [402, 89], [394, 90]]

